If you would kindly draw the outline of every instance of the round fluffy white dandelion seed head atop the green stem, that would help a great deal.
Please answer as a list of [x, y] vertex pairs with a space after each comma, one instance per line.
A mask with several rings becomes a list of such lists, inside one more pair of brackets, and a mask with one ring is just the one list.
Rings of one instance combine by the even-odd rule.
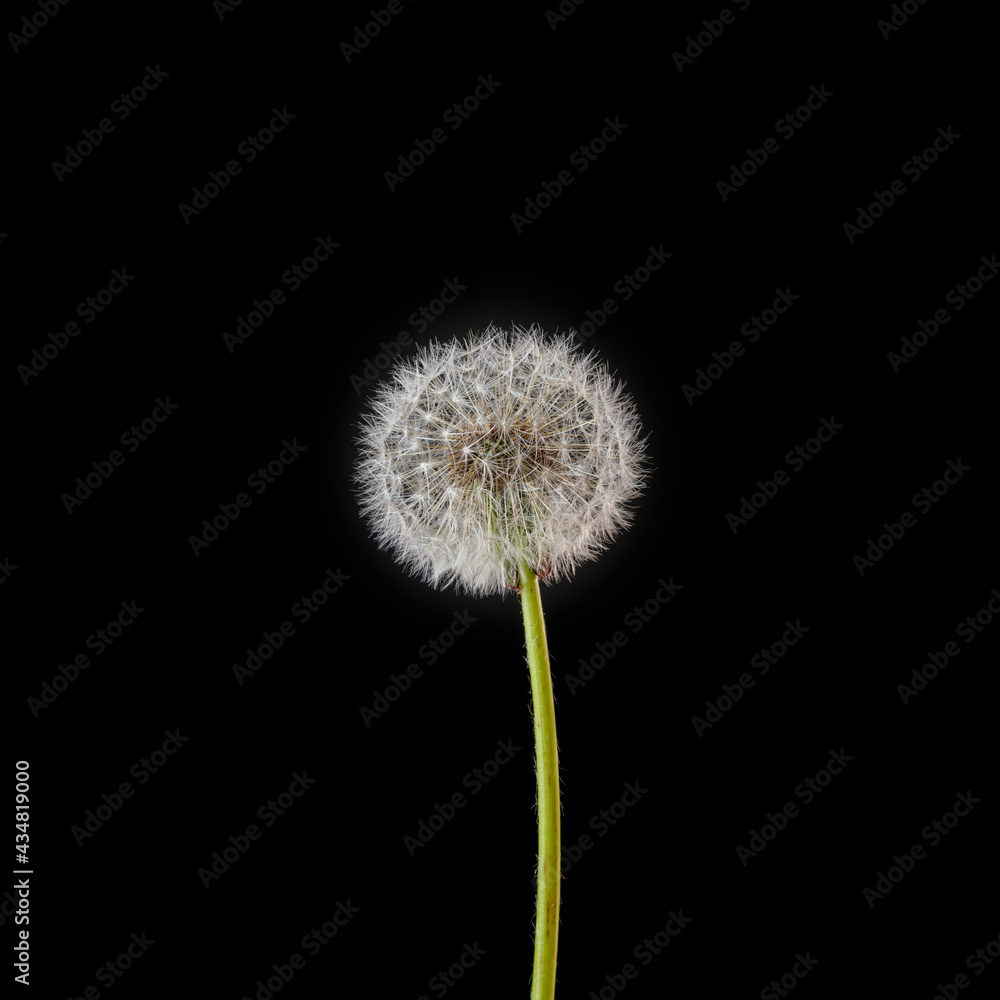
[[432, 586], [571, 575], [645, 484], [635, 406], [569, 337], [490, 326], [397, 363], [360, 424], [355, 484], [380, 547]]

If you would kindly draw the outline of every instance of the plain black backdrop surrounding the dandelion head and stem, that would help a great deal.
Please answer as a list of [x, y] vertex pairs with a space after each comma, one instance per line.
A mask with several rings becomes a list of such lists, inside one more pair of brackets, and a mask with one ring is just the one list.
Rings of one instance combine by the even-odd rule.
[[[39, 9], [22, 7], [5, 31]], [[416, 1000], [444, 995], [432, 977], [465, 945], [485, 955], [448, 994], [528, 995], [519, 606], [433, 591], [369, 539], [350, 469], [370, 387], [351, 377], [400, 332], [580, 329], [609, 298], [618, 312], [586, 342], [627, 382], [656, 472], [634, 526], [543, 592], [564, 843], [594, 840], [565, 870], [557, 995], [608, 998], [617, 981], [636, 998], [758, 996], [806, 952], [803, 998], [930, 1000], [963, 971], [976, 995], [995, 992], [1000, 970], [964, 963], [1000, 933], [1000, 626], [968, 644], [955, 630], [1000, 587], [998, 289], [960, 311], [946, 299], [997, 251], [981, 14], [919, 6], [886, 39], [889, 4], [754, 2], [679, 72], [673, 53], [718, 7], [590, 0], [553, 30], [541, 4], [405, 3], [350, 61], [341, 43], [367, 7], [219, 10], [71, 3], [3, 57], [0, 557], [16, 569], [0, 602], [9, 762], [31, 765], [36, 995], [254, 997], [298, 952], [305, 967], [281, 995]], [[147, 65], [169, 75], [119, 120], [112, 101]], [[390, 191], [385, 172], [490, 74], [495, 92]], [[832, 96], [778, 136], [821, 85]], [[247, 163], [237, 148], [273, 108], [295, 118]], [[616, 116], [627, 129], [577, 172], [571, 155]], [[114, 131], [58, 179], [53, 161], [104, 117]], [[960, 138], [907, 178], [903, 164], [949, 128]], [[723, 199], [717, 182], [769, 137], [778, 152]], [[185, 221], [180, 204], [232, 159], [239, 176]], [[565, 169], [573, 183], [518, 233], [512, 214]], [[894, 180], [905, 194], [851, 242], [845, 223]], [[340, 247], [230, 350], [223, 333], [319, 238]], [[660, 247], [672, 257], [623, 301], [616, 282]], [[134, 281], [22, 377], [115, 268]], [[410, 315], [448, 280], [461, 296], [417, 331]], [[740, 328], [778, 289], [797, 301], [750, 344]], [[894, 371], [888, 353], [941, 308], [948, 324]], [[733, 341], [745, 353], [689, 402], [682, 386]], [[76, 477], [167, 397], [176, 412], [68, 512]], [[824, 418], [842, 429], [790, 471], [786, 454]], [[286, 440], [300, 457], [248, 490]], [[916, 511], [959, 459], [969, 471]], [[734, 533], [726, 515], [782, 468], [787, 485]], [[244, 491], [251, 505], [196, 555], [203, 520]], [[859, 573], [854, 557], [905, 511], [916, 526]], [[341, 590], [239, 683], [247, 648], [328, 570], [348, 578]], [[670, 579], [679, 592], [632, 632], [626, 616]], [[122, 601], [138, 620], [51, 703], [30, 702]], [[456, 613], [475, 622], [429, 663], [421, 647]], [[706, 700], [756, 674], [751, 657], [789, 620], [808, 633], [699, 735]], [[616, 631], [627, 643], [572, 690], [567, 675]], [[957, 659], [904, 705], [897, 685], [948, 641]], [[366, 724], [361, 709], [411, 663], [422, 675]], [[140, 786], [130, 769], [175, 730], [186, 742]], [[520, 750], [470, 795], [463, 777], [498, 741]], [[796, 787], [834, 751], [850, 763], [804, 803]], [[258, 809], [303, 771], [315, 783], [265, 827]], [[74, 835], [130, 780], [120, 810]], [[628, 782], [647, 791], [598, 836], [591, 818]], [[463, 791], [411, 856], [403, 838]], [[930, 847], [921, 831], [970, 792], [980, 804]], [[737, 847], [789, 801], [799, 814], [742, 864]], [[260, 840], [206, 888], [199, 870], [251, 823]], [[913, 844], [924, 859], [869, 905], [863, 889]], [[309, 955], [303, 937], [348, 900], [359, 912]], [[643, 965], [634, 949], [680, 910], [690, 924]], [[97, 970], [142, 933], [155, 944], [103, 984]], [[616, 980], [629, 962], [637, 978]]]

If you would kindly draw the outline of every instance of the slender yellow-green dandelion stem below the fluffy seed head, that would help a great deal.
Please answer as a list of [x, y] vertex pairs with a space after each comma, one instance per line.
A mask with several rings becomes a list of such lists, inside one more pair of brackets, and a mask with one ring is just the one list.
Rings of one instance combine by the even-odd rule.
[[535, 958], [531, 1000], [553, 1000], [559, 944], [559, 751], [552, 671], [538, 577], [527, 563], [520, 567], [521, 610], [528, 647], [531, 701], [535, 718], [535, 769], [538, 774], [538, 899], [535, 905]]

